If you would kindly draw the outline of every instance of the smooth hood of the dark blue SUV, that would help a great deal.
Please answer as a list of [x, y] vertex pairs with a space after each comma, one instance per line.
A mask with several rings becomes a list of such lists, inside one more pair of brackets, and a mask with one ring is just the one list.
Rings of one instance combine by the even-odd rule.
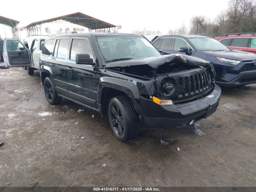
[[255, 60], [256, 54], [250, 52], [244, 52], [239, 50], [228, 50], [228, 51], [203, 51], [204, 54], [216, 57], [222, 57], [233, 60]]

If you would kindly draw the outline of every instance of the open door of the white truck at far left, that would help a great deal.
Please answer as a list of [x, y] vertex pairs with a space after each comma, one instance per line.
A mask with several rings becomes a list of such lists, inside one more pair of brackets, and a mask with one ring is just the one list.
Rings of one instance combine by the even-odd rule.
[[30, 51], [18, 39], [4, 39], [4, 63], [7, 66], [30, 65]]

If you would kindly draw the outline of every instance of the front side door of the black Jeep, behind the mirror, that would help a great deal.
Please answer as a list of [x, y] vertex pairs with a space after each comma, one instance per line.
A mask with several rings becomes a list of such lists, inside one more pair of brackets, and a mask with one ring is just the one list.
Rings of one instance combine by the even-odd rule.
[[93, 64], [76, 64], [76, 54], [86, 53], [93, 58], [95, 56], [88, 38], [73, 37], [70, 43], [68, 64], [66, 66], [68, 94], [87, 106], [97, 108], [96, 104], [96, 66]]

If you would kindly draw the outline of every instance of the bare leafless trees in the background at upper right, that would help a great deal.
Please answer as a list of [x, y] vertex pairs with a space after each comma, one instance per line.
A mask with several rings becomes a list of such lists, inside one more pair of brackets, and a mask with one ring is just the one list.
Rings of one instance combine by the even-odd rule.
[[219, 36], [226, 33], [256, 32], [256, 0], [230, 0], [228, 8], [211, 20], [193, 16], [189, 29], [184, 24], [169, 34], [202, 34]]

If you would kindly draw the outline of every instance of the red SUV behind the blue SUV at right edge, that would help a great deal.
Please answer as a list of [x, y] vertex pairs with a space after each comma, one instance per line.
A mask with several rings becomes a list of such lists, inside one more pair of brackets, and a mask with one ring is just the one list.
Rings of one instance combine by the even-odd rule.
[[256, 33], [223, 34], [215, 39], [230, 49], [256, 53]]

